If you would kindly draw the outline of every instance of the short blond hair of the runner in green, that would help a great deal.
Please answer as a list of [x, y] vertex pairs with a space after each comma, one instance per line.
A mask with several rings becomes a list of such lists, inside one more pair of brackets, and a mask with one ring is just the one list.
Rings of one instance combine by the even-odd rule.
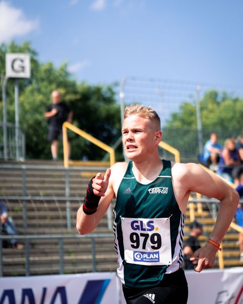
[[126, 106], [124, 112], [124, 119], [129, 116], [137, 115], [143, 118], [147, 118], [151, 121], [153, 125], [153, 131], [160, 131], [160, 118], [150, 106], [145, 106], [141, 104], [132, 104]]

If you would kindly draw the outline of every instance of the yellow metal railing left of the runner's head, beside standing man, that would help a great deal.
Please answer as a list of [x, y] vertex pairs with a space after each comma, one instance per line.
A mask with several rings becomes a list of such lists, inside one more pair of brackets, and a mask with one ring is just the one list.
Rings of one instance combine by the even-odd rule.
[[107, 144], [103, 143], [99, 139], [93, 137], [92, 135], [86, 133], [85, 131], [80, 130], [79, 128], [75, 127], [74, 125], [65, 122], [62, 125], [63, 131], [63, 157], [64, 157], [64, 167], [68, 168], [69, 161], [68, 161], [68, 139], [67, 139], [67, 129], [71, 130], [72, 132], [78, 134], [79, 136], [84, 137], [85, 139], [89, 140], [90, 142], [94, 143], [101, 149], [107, 151], [110, 154], [110, 166], [114, 165], [115, 163], [115, 151], [113, 148], [108, 146]]

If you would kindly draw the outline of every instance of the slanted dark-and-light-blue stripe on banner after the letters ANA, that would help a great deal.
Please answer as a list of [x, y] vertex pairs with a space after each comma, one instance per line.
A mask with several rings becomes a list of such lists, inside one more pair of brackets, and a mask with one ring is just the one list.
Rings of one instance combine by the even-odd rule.
[[88, 281], [78, 304], [100, 304], [109, 282], [110, 279]]

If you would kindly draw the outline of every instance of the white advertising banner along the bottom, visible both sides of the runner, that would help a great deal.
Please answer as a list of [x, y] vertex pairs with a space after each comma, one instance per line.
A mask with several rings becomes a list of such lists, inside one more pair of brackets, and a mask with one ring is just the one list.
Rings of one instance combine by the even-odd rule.
[[[188, 304], [243, 304], [243, 268], [185, 274]], [[116, 273], [0, 278], [0, 304], [110, 303], [126, 304]]]

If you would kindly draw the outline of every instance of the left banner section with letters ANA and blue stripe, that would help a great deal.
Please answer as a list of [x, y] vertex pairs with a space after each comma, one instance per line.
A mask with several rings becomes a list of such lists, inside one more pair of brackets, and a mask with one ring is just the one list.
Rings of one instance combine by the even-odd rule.
[[118, 302], [115, 273], [0, 278], [1, 304]]

